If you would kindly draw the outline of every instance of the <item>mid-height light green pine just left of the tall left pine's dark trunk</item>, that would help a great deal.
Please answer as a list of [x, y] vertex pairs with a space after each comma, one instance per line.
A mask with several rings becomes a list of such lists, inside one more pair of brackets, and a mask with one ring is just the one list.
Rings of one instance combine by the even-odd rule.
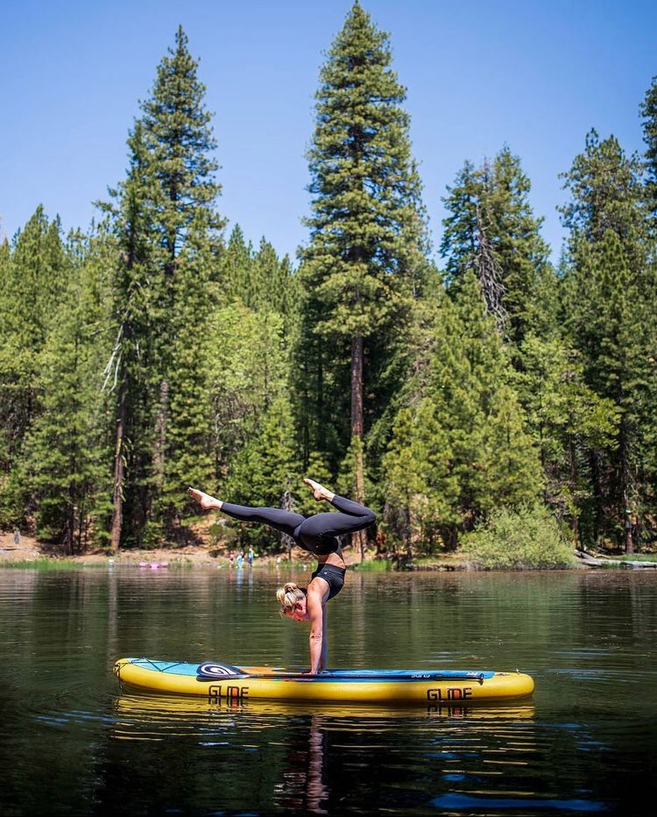
[[105, 302], [100, 270], [84, 255], [80, 261], [39, 355], [43, 410], [29, 430], [17, 470], [19, 484], [29, 489], [38, 537], [70, 554], [92, 541], [105, 544], [110, 495], [100, 366], [104, 346], [93, 337]]

